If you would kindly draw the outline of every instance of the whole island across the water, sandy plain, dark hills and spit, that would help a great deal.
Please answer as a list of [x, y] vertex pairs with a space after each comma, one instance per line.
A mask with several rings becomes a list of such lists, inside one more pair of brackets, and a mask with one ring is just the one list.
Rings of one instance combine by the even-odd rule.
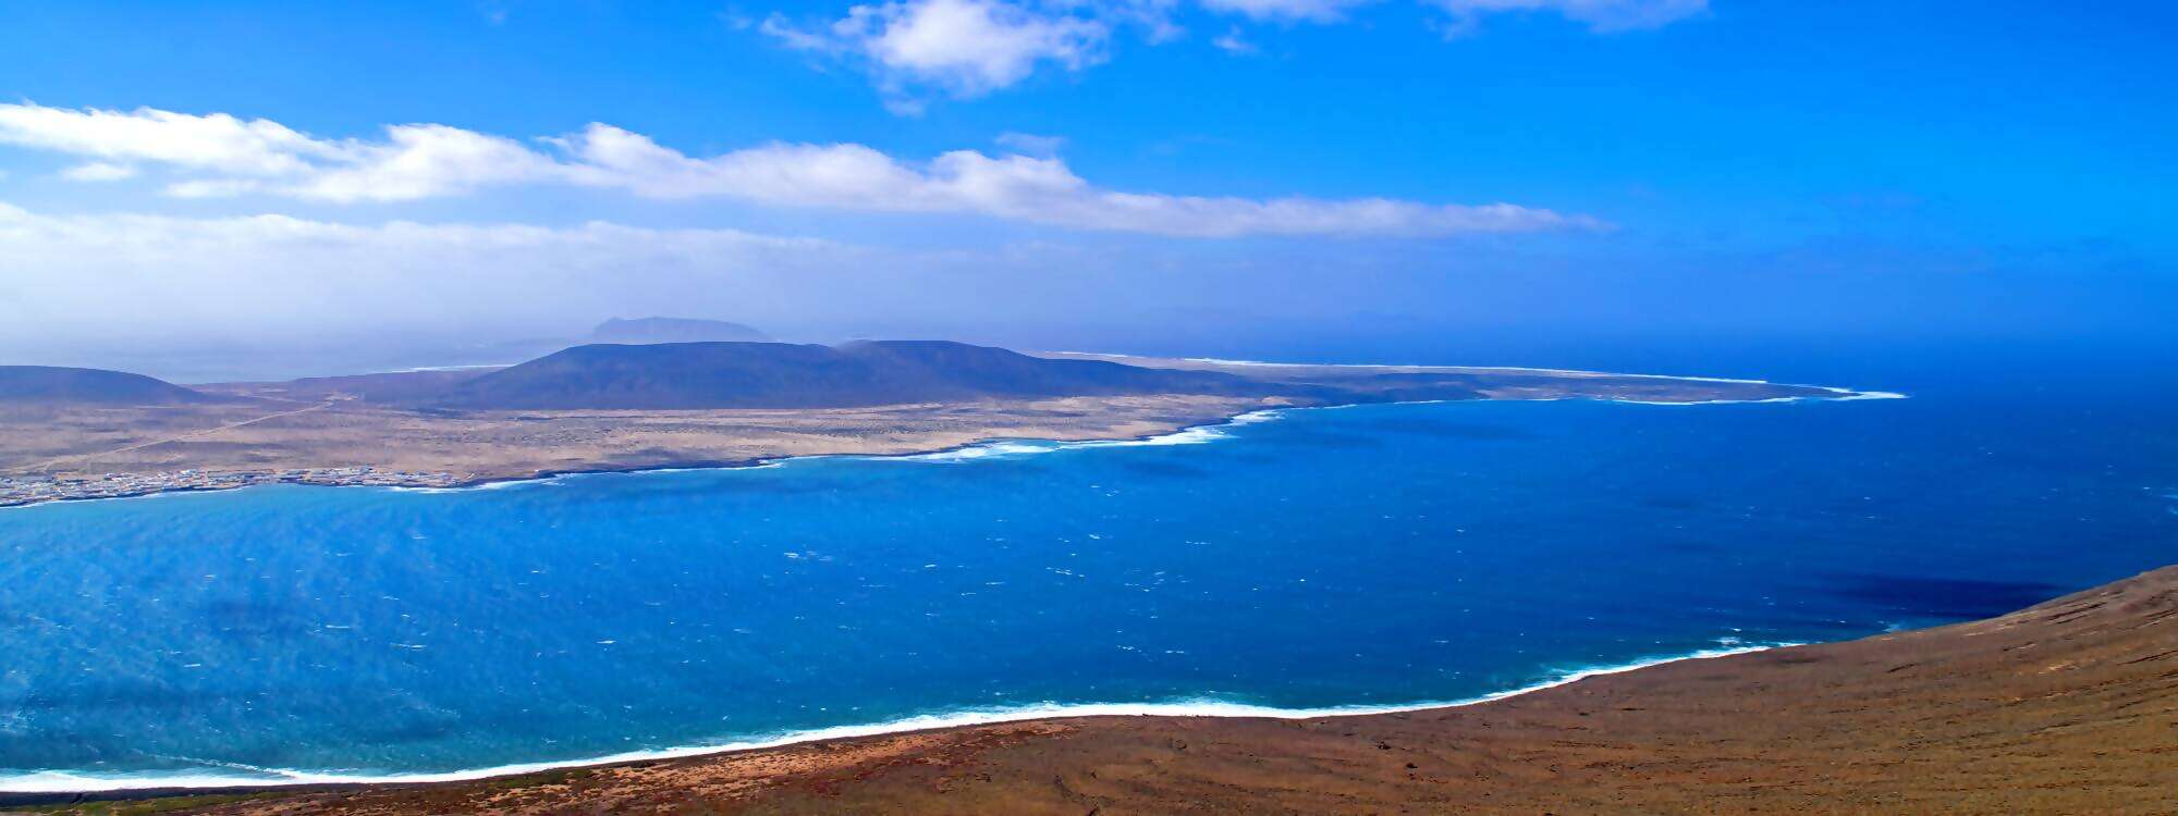
[[958, 342], [749, 339], [610, 320], [516, 366], [183, 387], [0, 366], [0, 507], [261, 483], [460, 487], [590, 470], [904, 455], [1002, 437], [1126, 440], [1263, 409], [1407, 400], [1747, 403], [1816, 385], [1457, 366], [1283, 366]]

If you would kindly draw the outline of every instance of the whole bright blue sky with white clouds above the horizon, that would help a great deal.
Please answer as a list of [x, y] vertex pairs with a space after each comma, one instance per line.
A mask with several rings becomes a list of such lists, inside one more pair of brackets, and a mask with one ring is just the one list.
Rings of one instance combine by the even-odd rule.
[[0, 363], [327, 374], [612, 316], [1520, 366], [2154, 346], [2174, 35], [2150, 2], [0, 0]]

